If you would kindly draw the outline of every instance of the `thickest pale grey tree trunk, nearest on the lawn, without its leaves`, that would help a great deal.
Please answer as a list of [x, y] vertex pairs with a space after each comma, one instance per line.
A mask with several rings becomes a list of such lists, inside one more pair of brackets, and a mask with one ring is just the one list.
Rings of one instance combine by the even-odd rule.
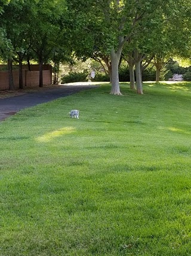
[[110, 52], [111, 62], [112, 62], [112, 89], [110, 94], [122, 95], [120, 92], [119, 86], [119, 56], [115, 53], [115, 50], [111, 50]]

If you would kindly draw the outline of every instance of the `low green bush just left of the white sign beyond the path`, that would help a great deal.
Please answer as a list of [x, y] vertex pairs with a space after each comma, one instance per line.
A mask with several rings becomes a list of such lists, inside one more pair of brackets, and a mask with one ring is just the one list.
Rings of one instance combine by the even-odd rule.
[[61, 83], [88, 82], [88, 71], [70, 72], [68, 75], [61, 77]]

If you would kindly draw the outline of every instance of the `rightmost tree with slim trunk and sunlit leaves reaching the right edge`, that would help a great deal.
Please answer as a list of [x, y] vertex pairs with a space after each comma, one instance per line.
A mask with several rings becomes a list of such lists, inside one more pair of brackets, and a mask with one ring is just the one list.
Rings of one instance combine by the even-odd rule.
[[[167, 60], [173, 56], [186, 56], [189, 49], [189, 28], [191, 23], [191, 2], [177, 0], [171, 2], [171, 8], [164, 10], [161, 26], [152, 33], [153, 44], [150, 52], [156, 67], [156, 82], [160, 80]], [[191, 28], [190, 28], [191, 29]]]

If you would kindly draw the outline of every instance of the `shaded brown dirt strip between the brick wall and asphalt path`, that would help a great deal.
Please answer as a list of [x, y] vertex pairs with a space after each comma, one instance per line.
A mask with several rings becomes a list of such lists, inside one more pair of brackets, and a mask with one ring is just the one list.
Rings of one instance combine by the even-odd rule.
[[25, 87], [24, 89], [15, 89], [14, 91], [4, 90], [0, 91], [0, 99], [14, 97], [26, 94], [27, 92], [41, 92], [48, 89], [56, 89], [59, 88], [60, 85], [44, 85], [43, 87], [33, 86], [33, 87]]

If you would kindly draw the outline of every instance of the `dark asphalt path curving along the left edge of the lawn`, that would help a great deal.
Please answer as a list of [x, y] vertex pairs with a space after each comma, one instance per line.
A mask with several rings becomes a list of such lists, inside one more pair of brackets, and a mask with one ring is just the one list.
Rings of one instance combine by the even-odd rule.
[[96, 88], [95, 85], [78, 85], [78, 86], [60, 86], [56, 89], [47, 89], [45, 91], [27, 92], [26, 94], [0, 99], [0, 121], [14, 115], [21, 109], [33, 107], [38, 104], [47, 103], [57, 98], [66, 97], [76, 92]]

